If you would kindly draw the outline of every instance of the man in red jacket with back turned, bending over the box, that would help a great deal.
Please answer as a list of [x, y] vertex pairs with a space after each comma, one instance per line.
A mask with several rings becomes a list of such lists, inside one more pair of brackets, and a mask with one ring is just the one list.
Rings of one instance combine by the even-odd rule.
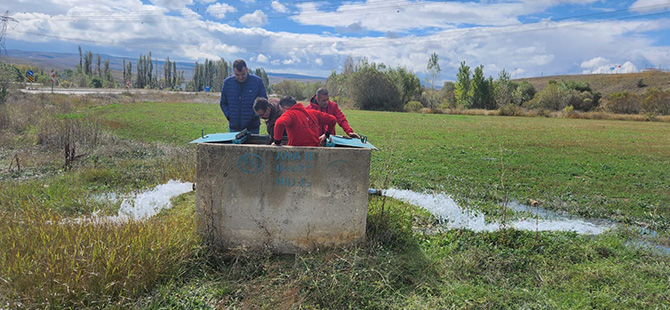
[[290, 146], [319, 146], [326, 132], [335, 133], [337, 120], [330, 114], [307, 110], [290, 96], [279, 100], [279, 105], [284, 113], [275, 122], [272, 145], [281, 145], [284, 130]]

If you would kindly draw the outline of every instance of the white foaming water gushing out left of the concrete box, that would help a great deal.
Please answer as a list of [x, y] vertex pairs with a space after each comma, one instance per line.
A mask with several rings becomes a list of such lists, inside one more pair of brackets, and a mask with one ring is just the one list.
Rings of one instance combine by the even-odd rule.
[[109, 222], [127, 222], [129, 220], [141, 221], [158, 214], [161, 210], [172, 207], [170, 199], [175, 196], [193, 190], [193, 183], [181, 182], [181, 180], [170, 180], [165, 184], [158, 185], [152, 189], [128, 196], [119, 196], [108, 193], [97, 197], [112, 202], [121, 200], [121, 207], [117, 215], [96, 216], [96, 220]]

